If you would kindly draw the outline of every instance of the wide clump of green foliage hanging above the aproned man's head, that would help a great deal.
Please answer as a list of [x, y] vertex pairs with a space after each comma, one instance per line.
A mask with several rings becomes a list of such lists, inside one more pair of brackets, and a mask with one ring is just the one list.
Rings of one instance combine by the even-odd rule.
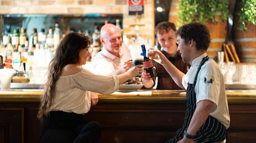
[[190, 22], [218, 22], [217, 15], [223, 20], [228, 16], [228, 0], [180, 0], [179, 24]]

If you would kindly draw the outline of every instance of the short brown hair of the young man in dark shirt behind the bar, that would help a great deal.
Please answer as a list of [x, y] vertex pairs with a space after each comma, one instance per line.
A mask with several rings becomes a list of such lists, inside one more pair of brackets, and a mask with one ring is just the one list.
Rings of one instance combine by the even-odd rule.
[[157, 24], [155, 27], [155, 34], [159, 33], [160, 35], [168, 33], [170, 30], [176, 31], [176, 26], [172, 22], [164, 21]]

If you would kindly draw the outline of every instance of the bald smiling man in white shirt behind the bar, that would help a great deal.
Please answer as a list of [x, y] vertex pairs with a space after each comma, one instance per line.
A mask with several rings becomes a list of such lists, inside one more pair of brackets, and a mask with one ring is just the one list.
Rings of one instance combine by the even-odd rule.
[[129, 70], [132, 65], [130, 51], [122, 46], [122, 35], [113, 24], [105, 24], [100, 31], [102, 50], [94, 57], [90, 67], [92, 73], [109, 76], [119, 75]]

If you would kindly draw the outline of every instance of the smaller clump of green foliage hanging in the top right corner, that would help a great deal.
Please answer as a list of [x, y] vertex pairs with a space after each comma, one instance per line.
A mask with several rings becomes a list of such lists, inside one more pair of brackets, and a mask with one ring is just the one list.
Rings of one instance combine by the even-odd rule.
[[251, 22], [253, 25], [256, 25], [256, 0], [241, 1], [241, 14], [239, 17], [238, 29], [245, 31], [247, 22]]

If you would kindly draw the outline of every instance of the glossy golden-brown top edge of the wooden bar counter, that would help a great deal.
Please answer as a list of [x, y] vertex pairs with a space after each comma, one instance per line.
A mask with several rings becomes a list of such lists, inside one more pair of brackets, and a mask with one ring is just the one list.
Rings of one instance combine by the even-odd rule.
[[[256, 90], [226, 90], [229, 104], [256, 104]], [[39, 102], [43, 90], [0, 90], [0, 102]], [[99, 94], [100, 103], [182, 103], [184, 90], [116, 91]]]

